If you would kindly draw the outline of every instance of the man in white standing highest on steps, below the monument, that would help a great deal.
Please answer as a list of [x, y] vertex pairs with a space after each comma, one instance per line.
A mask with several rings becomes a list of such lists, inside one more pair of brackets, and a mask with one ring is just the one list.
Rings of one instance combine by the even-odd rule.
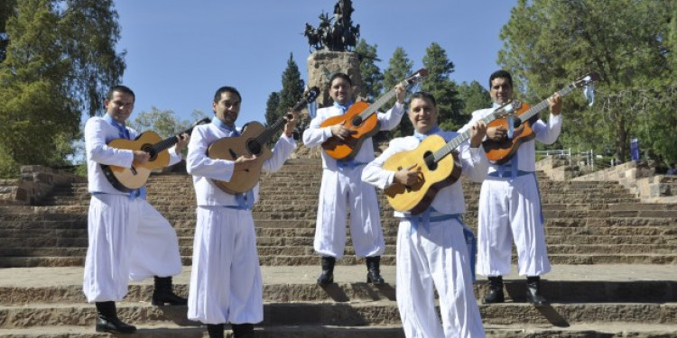
[[[377, 113], [380, 130], [391, 130], [400, 123], [404, 114], [405, 94], [406, 88], [402, 85], [395, 87], [397, 102], [393, 108], [386, 113]], [[303, 143], [307, 147], [320, 146], [331, 137], [343, 140], [350, 135], [350, 129], [340, 124], [320, 126], [330, 117], [345, 114], [353, 104], [352, 81], [348, 75], [336, 73], [329, 79], [329, 96], [334, 100], [334, 105], [319, 109], [309, 128], [303, 132]], [[370, 160], [374, 160], [371, 137], [366, 139], [350, 160], [335, 160], [326, 151], [322, 151], [322, 183], [314, 242], [315, 251], [322, 256], [322, 273], [318, 278], [320, 285], [333, 282], [334, 264], [337, 258], [343, 256], [346, 246], [347, 204], [355, 254], [357, 257], [366, 257], [366, 281], [384, 283], [380, 274], [380, 260], [385, 251], [385, 241], [378, 215], [376, 190], [364, 184], [360, 178], [362, 169]]]

